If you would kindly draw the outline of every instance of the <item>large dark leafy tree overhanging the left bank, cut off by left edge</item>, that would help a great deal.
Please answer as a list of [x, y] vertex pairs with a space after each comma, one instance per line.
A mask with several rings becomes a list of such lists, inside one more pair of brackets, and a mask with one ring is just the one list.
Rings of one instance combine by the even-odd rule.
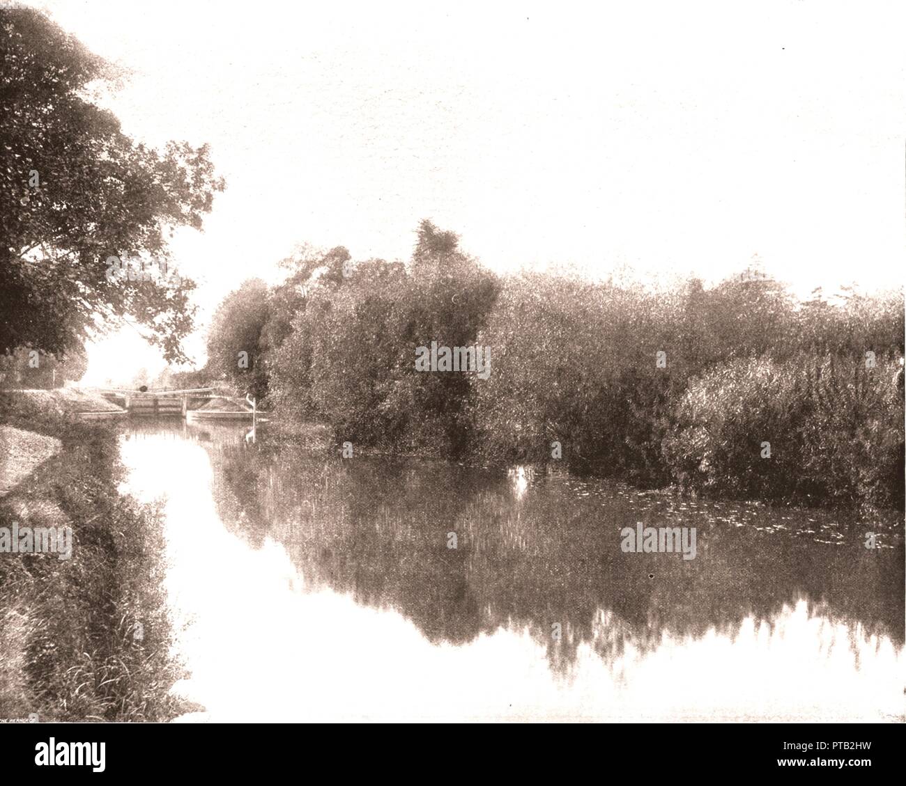
[[168, 264], [173, 229], [200, 228], [223, 181], [207, 146], [124, 134], [89, 96], [112, 75], [43, 14], [0, 10], [0, 353], [65, 354], [130, 318], [186, 359], [194, 283], [123, 281], [108, 260]]

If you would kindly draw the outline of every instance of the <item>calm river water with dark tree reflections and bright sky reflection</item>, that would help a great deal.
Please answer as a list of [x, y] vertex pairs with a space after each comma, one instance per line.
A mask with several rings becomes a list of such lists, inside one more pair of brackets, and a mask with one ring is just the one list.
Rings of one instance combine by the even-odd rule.
[[[342, 459], [266, 429], [120, 438], [125, 490], [163, 502], [175, 690], [204, 718], [904, 720], [894, 513]], [[622, 551], [637, 522], [695, 527], [695, 559]]]

